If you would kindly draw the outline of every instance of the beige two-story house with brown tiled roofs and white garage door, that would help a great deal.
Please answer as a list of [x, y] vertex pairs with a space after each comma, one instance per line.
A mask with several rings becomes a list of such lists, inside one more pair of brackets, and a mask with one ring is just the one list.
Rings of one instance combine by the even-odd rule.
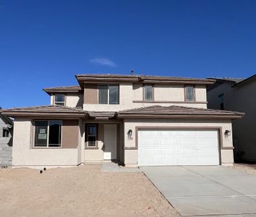
[[234, 163], [232, 119], [207, 109], [215, 80], [144, 75], [76, 75], [78, 86], [45, 88], [50, 106], [10, 108], [13, 166]]

